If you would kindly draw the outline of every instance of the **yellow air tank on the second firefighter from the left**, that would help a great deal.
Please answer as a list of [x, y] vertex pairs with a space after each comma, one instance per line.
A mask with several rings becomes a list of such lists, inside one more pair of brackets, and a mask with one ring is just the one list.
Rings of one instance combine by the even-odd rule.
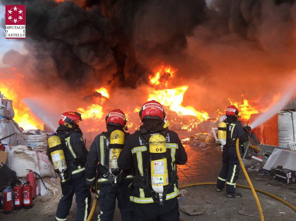
[[124, 146], [124, 132], [114, 130], [110, 135], [109, 172], [114, 176], [114, 183], [117, 183], [117, 176], [123, 171], [117, 165], [117, 159]]

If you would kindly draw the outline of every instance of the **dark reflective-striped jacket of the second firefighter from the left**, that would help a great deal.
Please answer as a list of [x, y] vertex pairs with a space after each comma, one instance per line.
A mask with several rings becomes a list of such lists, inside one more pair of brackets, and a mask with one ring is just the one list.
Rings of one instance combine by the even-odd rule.
[[[106, 137], [107, 135], [107, 137]], [[124, 143], [126, 143], [127, 137], [130, 133], [124, 132]], [[91, 144], [91, 148], [87, 155], [87, 161], [85, 164], [85, 176], [86, 176], [86, 184], [91, 186], [95, 183], [96, 178], [96, 168], [99, 163], [99, 176], [98, 176], [98, 186], [104, 186], [110, 184], [110, 181], [106, 177], [109, 173], [109, 144], [110, 144], [110, 133], [102, 132], [98, 136], [94, 138], [93, 143]], [[131, 179], [133, 179], [131, 169], [123, 170], [123, 175], [126, 176], [125, 179], [121, 181], [131, 183]]]

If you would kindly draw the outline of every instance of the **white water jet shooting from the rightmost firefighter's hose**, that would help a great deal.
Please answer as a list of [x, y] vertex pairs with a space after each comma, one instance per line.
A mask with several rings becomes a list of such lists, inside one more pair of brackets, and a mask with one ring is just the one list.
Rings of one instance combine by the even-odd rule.
[[278, 102], [276, 102], [266, 112], [262, 113], [257, 119], [255, 119], [255, 121], [250, 125], [252, 129], [266, 122], [269, 118], [274, 116], [274, 114], [278, 113], [289, 102], [289, 100], [294, 94], [295, 87], [292, 86], [288, 88], [289, 90], [283, 92], [283, 96], [281, 97], [281, 99], [279, 99]]

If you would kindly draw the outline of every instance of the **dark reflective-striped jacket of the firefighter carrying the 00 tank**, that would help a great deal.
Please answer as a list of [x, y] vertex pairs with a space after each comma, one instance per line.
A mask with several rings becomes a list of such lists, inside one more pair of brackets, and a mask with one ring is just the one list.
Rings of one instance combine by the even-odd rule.
[[[159, 133], [149, 133], [150, 135]], [[187, 154], [176, 132], [167, 130], [165, 135], [167, 160], [168, 160], [168, 173], [177, 175], [177, 164], [184, 165], [187, 162]], [[133, 133], [128, 137], [125, 147], [118, 158], [118, 167], [122, 170], [134, 168], [135, 183], [132, 190], [130, 200], [135, 203], [153, 203], [152, 195], [147, 189], [141, 188], [137, 184], [137, 177], [143, 178], [145, 172], [150, 173], [150, 159], [147, 153], [147, 147], [141, 140], [137, 133]], [[175, 177], [174, 177], [175, 178]], [[149, 181], [148, 181], [149, 182]], [[167, 193], [166, 200], [173, 199], [179, 195], [178, 190], [178, 177], [171, 183]]]

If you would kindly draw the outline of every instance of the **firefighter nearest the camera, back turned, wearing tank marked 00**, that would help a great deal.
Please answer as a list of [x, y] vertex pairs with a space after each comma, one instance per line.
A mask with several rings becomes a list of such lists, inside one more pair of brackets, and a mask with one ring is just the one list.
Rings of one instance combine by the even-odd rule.
[[177, 221], [177, 164], [184, 165], [187, 154], [176, 132], [165, 126], [160, 103], [146, 102], [139, 115], [143, 125], [128, 137], [118, 158], [119, 168], [135, 171], [130, 196], [133, 220]]

